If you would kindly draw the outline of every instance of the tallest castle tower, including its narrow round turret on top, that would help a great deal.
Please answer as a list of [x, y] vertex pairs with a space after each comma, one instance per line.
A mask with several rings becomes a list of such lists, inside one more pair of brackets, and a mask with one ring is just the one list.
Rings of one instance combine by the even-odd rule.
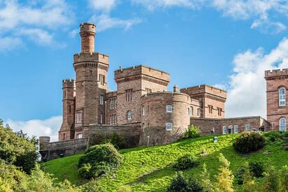
[[73, 64], [76, 73], [75, 138], [86, 137], [89, 124], [105, 122], [109, 57], [94, 52], [95, 35], [94, 24], [80, 24], [81, 52], [74, 54]]

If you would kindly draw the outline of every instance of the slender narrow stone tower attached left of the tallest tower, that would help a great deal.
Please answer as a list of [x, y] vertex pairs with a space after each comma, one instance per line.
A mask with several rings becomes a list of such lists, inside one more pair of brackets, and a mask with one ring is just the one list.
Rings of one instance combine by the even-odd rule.
[[63, 121], [59, 130], [59, 141], [74, 138], [75, 81], [63, 80]]

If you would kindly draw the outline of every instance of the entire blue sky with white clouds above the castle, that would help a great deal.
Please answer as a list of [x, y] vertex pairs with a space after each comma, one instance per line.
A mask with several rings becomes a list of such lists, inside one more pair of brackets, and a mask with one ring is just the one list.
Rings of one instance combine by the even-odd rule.
[[62, 80], [75, 78], [79, 24], [113, 71], [145, 64], [174, 84], [226, 89], [226, 117], [266, 118], [264, 71], [288, 68], [285, 0], [0, 0], [0, 118], [50, 135], [62, 123]]

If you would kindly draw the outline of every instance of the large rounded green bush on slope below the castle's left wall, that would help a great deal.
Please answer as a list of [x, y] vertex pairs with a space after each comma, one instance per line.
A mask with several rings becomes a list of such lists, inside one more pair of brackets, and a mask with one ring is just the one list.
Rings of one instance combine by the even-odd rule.
[[94, 145], [79, 159], [78, 172], [85, 179], [96, 178], [118, 168], [121, 163], [122, 156], [113, 145]]

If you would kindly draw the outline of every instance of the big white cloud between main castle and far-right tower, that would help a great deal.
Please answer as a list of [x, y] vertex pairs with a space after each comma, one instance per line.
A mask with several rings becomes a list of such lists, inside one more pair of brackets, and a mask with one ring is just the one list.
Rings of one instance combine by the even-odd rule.
[[264, 71], [288, 67], [288, 39], [265, 54], [262, 48], [247, 50], [233, 59], [233, 75], [230, 76], [227, 117], [261, 115], [266, 117], [266, 82]]

